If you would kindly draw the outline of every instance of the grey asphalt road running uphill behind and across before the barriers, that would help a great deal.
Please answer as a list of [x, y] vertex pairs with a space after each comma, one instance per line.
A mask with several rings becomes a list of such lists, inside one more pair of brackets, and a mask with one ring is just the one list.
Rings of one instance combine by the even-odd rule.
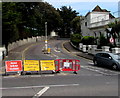
[[[68, 40], [50, 40], [51, 54], [44, 54], [42, 49], [44, 42], [30, 44], [27, 47], [19, 47], [14, 51], [19, 54], [17, 59], [44, 60], [56, 58], [79, 59], [81, 70], [78, 74], [72, 72], [60, 72], [58, 74], [41, 73], [22, 76], [4, 76], [2, 78], [2, 95], [39, 98], [41, 96], [85, 96], [102, 98], [118, 98], [119, 96], [119, 72], [93, 65], [91, 60], [77, 56], [76, 51], [69, 47], [67, 51], [63, 44]], [[3, 98], [4, 98], [3, 97]]]

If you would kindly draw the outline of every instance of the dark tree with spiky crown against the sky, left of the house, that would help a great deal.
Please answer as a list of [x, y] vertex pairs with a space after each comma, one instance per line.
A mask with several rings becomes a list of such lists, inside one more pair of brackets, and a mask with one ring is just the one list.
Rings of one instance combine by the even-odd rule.
[[61, 37], [70, 37], [72, 30], [71, 21], [78, 13], [75, 10], [73, 11], [70, 6], [68, 8], [66, 6], [62, 6], [60, 9], [57, 9], [57, 11], [60, 13], [62, 18], [59, 35]]

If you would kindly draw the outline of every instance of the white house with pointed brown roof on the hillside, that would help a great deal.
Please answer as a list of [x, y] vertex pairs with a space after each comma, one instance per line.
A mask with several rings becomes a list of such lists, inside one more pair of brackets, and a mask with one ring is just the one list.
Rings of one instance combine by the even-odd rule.
[[88, 12], [81, 20], [81, 32], [83, 36], [99, 37], [106, 36], [105, 26], [114, 22], [115, 17], [106, 9], [101, 9], [98, 5]]

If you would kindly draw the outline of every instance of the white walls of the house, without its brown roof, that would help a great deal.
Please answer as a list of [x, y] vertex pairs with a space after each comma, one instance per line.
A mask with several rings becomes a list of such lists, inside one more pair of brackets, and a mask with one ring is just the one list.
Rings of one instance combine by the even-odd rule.
[[[81, 32], [83, 36], [100, 36], [100, 33], [105, 33], [104, 26], [110, 23], [109, 12], [90, 12], [84, 19], [81, 21]], [[87, 22], [87, 26], [85, 26]]]

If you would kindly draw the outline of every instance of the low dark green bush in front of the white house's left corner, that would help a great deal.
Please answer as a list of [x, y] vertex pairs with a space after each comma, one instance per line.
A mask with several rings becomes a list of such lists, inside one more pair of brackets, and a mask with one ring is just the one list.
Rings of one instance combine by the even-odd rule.
[[96, 44], [95, 40], [96, 39], [93, 36], [84, 36], [81, 40], [81, 43], [84, 45], [93, 45]]

